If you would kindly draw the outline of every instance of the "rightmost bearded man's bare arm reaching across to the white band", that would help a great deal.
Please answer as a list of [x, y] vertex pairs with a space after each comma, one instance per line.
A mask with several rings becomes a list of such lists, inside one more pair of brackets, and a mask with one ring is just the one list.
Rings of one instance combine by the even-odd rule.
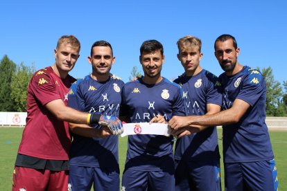
[[168, 122], [168, 125], [170, 125], [171, 129], [173, 129], [174, 134], [178, 129], [192, 127], [192, 125], [229, 125], [238, 122], [249, 107], [250, 104], [247, 102], [236, 99], [232, 108], [225, 111], [220, 111], [219, 113], [205, 116], [173, 116], [173, 118], [171, 118], [171, 120]]

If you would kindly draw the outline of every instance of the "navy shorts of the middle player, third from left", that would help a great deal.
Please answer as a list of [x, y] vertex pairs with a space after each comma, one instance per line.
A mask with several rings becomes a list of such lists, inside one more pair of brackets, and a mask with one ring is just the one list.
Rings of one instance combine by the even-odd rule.
[[121, 190], [175, 190], [174, 174], [163, 171], [125, 170]]

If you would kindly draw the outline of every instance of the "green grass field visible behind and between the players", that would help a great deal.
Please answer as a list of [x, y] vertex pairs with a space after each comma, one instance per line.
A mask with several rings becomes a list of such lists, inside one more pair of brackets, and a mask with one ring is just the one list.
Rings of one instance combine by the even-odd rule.
[[[17, 149], [21, 140], [23, 128], [2, 127], [0, 128], [0, 190], [11, 190], [12, 172], [17, 155]], [[221, 137], [221, 129], [218, 129], [218, 137]], [[275, 153], [277, 164], [279, 190], [287, 190], [287, 131], [270, 131], [272, 148]], [[119, 138], [119, 165], [121, 173], [125, 164], [125, 155], [128, 138]], [[218, 139], [220, 151], [222, 151], [222, 140]], [[223, 156], [221, 154], [221, 156]], [[221, 161], [221, 182], [224, 186], [223, 163]], [[224, 187], [223, 187], [224, 188]], [[224, 189], [223, 189], [224, 190]]]

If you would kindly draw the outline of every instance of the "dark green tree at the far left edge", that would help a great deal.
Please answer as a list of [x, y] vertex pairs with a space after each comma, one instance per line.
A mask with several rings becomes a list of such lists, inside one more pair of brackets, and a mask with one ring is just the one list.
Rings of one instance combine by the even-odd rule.
[[0, 111], [13, 111], [15, 102], [10, 96], [10, 83], [15, 69], [16, 64], [4, 55], [0, 61]]

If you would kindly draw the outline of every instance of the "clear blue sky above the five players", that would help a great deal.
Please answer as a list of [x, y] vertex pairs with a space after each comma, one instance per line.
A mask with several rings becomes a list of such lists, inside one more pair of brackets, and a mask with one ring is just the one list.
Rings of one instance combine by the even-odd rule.
[[81, 42], [80, 58], [71, 71], [82, 78], [92, 71], [87, 62], [92, 44], [110, 42], [115, 73], [127, 82], [139, 64], [139, 47], [148, 39], [164, 45], [162, 75], [177, 78], [183, 72], [177, 60], [177, 39], [202, 39], [203, 68], [220, 75], [214, 40], [222, 34], [236, 37], [243, 65], [271, 66], [275, 80], [287, 80], [287, 1], [1, 1], [0, 57], [36, 69], [54, 63], [53, 49], [62, 35]]

